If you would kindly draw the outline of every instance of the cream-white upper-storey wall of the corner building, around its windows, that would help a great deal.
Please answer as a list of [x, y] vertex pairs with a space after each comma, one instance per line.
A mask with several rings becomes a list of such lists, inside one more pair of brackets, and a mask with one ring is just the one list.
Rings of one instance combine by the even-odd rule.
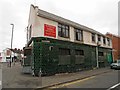
[[[54, 38], [54, 39], [59, 39], [59, 40], [66, 40], [66, 41], [71, 41], [71, 42], [76, 42], [76, 43], [83, 43], [83, 44], [97, 46], [98, 35], [100, 35], [101, 36], [101, 42], [99, 42], [100, 46], [106, 47], [106, 48], [112, 48], [112, 43], [111, 43], [110, 38], [109, 38], [110, 45], [108, 45], [108, 42], [107, 42], [108, 37], [106, 37], [105, 35], [97, 32], [95, 30], [93, 30], [93, 32], [92, 32], [92, 29], [90, 29], [90, 28], [87, 28], [87, 30], [86, 30], [86, 27], [84, 27], [84, 26], [81, 26], [81, 28], [83, 28], [82, 29], [83, 30], [83, 41], [82, 42], [75, 40], [74, 28], [76, 28], [76, 27], [74, 27], [72, 25], [69, 25], [69, 35], [70, 35], [69, 38], [63, 38], [63, 37], [58, 36], [58, 22], [62, 23], [62, 20], [64, 21], [64, 19], [59, 17], [59, 16], [55, 16], [55, 18], [57, 18], [57, 20], [60, 20], [60, 18], [62, 20], [60, 20], [60, 21], [52, 20], [52, 19], [50, 19], [50, 17], [54, 18], [53, 17], [54, 15], [47, 13], [47, 12], [44, 12], [44, 11], [42, 11], [43, 13], [39, 13], [39, 10], [40, 9], [38, 9], [38, 7], [31, 5], [29, 21], [28, 21], [28, 37], [29, 37], [30, 26], [32, 25], [31, 37], [48, 37], [48, 38]], [[47, 17], [47, 15], [44, 16], [45, 14], [48, 14], [48, 16], [50, 16], [50, 15], [51, 16], [50, 17]], [[63, 22], [63, 24], [68, 25], [65, 22], [69, 22], [69, 21], [66, 21], [66, 19], [65, 19], [65, 21]], [[73, 23], [73, 22], [69, 22], [69, 23]], [[48, 25], [56, 27], [56, 37], [44, 36], [44, 24], [48, 24]], [[74, 25], [75, 24], [76, 23], [74, 23]], [[92, 33], [95, 34], [95, 37], [96, 37], [95, 42], [92, 42]], [[105, 39], [106, 39], [105, 45], [103, 44], [103, 37], [105, 37]], [[29, 40], [30, 40], [30, 38], [28, 38], [28, 41]]]

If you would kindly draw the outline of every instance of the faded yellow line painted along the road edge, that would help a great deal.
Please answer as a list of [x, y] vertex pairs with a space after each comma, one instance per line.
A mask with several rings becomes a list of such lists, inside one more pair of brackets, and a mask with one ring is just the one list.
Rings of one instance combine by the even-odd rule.
[[53, 86], [53, 87], [50, 87], [50, 88], [60, 88], [60, 87], [65, 87], [65, 86], [69, 86], [71, 84], [75, 84], [75, 83], [79, 83], [79, 82], [83, 82], [83, 81], [86, 81], [86, 80], [89, 80], [89, 79], [92, 79], [92, 78], [95, 78], [96, 76], [91, 76], [91, 77], [88, 77], [88, 78], [85, 78], [85, 79], [81, 79], [81, 80], [77, 80], [77, 81], [73, 81], [73, 82], [68, 82], [68, 83], [65, 83], [65, 84], [61, 84], [61, 85], [56, 85], [56, 86]]

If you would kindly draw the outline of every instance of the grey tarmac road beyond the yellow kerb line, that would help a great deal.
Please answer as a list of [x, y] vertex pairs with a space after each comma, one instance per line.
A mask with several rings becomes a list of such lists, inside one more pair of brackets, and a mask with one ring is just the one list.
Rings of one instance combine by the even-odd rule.
[[[112, 72], [91, 76], [82, 80], [61, 84], [51, 88], [104, 88], [105, 90], [109, 90], [112, 86], [120, 83], [120, 79], [118, 78], [119, 72], [119, 70], [113, 70]], [[118, 87], [119, 85], [114, 88]]]

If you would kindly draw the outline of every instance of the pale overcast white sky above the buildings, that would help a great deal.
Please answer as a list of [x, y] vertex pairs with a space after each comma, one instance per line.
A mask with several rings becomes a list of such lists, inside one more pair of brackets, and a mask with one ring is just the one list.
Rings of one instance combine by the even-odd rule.
[[102, 34], [118, 34], [119, 0], [0, 0], [0, 51], [10, 48], [14, 24], [13, 48], [26, 44], [30, 5], [77, 22]]

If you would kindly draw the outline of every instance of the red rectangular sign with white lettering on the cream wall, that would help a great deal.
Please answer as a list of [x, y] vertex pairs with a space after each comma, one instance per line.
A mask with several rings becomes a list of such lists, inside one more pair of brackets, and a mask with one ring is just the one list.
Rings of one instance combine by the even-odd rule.
[[44, 36], [56, 37], [56, 27], [44, 24]]

